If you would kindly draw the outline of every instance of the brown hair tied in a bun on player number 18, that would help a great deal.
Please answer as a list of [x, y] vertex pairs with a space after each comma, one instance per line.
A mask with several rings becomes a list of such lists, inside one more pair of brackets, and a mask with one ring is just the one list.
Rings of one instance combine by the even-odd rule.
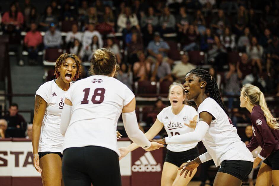
[[[92, 74], [108, 76], [113, 73], [116, 65], [116, 57], [109, 49], [101, 48], [96, 50], [92, 55]], [[116, 70], [119, 66], [116, 65]]]

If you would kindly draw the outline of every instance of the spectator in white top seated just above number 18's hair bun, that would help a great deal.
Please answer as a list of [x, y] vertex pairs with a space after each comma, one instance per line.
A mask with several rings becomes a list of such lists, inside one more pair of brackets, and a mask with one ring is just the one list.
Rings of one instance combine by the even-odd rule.
[[102, 36], [101, 36], [100, 32], [98, 32], [94, 29], [95, 29], [94, 24], [89, 23], [88, 24], [88, 30], [85, 31], [84, 35], [83, 35], [82, 46], [84, 48], [87, 48], [87, 49], [89, 48], [90, 44], [92, 43], [92, 38], [94, 36], [98, 37], [98, 43], [99, 43], [98, 48], [102, 48], [102, 46], [104, 45], [104, 42], [103, 42], [103, 39], [102, 39]]

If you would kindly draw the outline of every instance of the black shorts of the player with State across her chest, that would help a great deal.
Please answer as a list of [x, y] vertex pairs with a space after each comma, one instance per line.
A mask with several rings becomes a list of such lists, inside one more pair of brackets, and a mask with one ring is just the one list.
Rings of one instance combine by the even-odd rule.
[[183, 152], [172, 152], [170, 150], [167, 150], [165, 161], [180, 167], [182, 163], [192, 161], [198, 156], [199, 151], [197, 146]]

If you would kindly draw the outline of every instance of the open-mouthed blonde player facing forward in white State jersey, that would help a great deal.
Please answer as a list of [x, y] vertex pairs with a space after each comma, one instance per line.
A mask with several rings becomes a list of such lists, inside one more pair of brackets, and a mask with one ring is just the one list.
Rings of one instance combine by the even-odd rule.
[[[157, 116], [155, 123], [145, 133], [147, 139], [153, 139], [163, 127], [168, 136], [186, 134], [187, 132], [193, 132], [194, 129], [190, 128], [190, 122], [194, 123], [194, 127], [197, 121], [197, 111], [195, 108], [185, 105], [185, 94], [182, 84], [173, 83], [169, 88], [169, 101], [171, 106], [164, 108]], [[188, 126], [186, 126], [188, 125]], [[180, 145], [171, 144], [167, 145], [166, 159], [163, 165], [161, 185], [162, 186], [179, 186], [187, 185], [192, 177], [187, 176], [185, 180], [179, 176], [177, 169], [180, 166], [184, 166], [187, 162], [195, 159], [199, 153], [197, 148], [198, 143]], [[119, 149], [121, 158], [127, 155], [127, 153], [137, 149], [139, 146], [132, 143], [128, 147], [122, 147]], [[196, 169], [193, 171], [195, 174]]]

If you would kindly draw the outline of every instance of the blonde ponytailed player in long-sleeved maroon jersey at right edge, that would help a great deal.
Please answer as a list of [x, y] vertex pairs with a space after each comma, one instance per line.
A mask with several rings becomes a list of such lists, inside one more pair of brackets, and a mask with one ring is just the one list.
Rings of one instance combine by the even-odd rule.
[[246, 147], [252, 152], [259, 145], [262, 151], [255, 158], [253, 168], [263, 161], [256, 185], [279, 185], [279, 124], [267, 107], [264, 94], [257, 86], [246, 84], [240, 91], [240, 107], [251, 113], [253, 137]]

